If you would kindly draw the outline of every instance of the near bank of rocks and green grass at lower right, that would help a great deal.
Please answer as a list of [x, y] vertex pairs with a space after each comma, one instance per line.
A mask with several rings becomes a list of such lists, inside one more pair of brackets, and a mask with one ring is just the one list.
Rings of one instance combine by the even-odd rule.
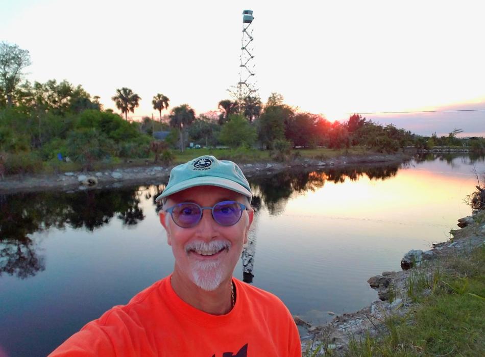
[[[411, 250], [402, 271], [369, 285], [380, 300], [322, 326], [295, 317], [305, 357], [477, 356], [485, 350], [485, 210], [460, 218], [447, 242]], [[481, 351], [481, 352], [480, 352]]]

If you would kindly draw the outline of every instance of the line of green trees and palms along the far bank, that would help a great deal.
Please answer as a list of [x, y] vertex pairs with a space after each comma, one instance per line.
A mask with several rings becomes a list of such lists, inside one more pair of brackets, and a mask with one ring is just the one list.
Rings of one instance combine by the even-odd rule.
[[[0, 43], [0, 173], [33, 172], [43, 165], [56, 167], [60, 160], [82, 163], [85, 169], [96, 161], [114, 162], [148, 158], [155, 154], [165, 162], [173, 159], [169, 148], [183, 151], [187, 143], [214, 147], [272, 150], [284, 160], [292, 148], [350, 148], [362, 146], [378, 152], [395, 152], [406, 146], [461, 145], [455, 130], [448, 137], [422, 137], [381, 125], [354, 114], [347, 121], [331, 122], [319, 114], [305, 113], [284, 103], [272, 93], [265, 103], [257, 96], [243, 102], [223, 99], [217, 111], [196, 115], [183, 104], [168, 112], [170, 99], [161, 93], [152, 105], [159, 118], [128, 120], [139, 106], [132, 89], [115, 89], [111, 98], [122, 116], [104, 109], [99, 96], [91, 96], [81, 85], [50, 80], [23, 80], [31, 64], [27, 50]], [[23, 80], [23, 81], [22, 81]], [[162, 111], [168, 115], [162, 117]], [[163, 143], [154, 132], [170, 132]], [[477, 141], [481, 149], [483, 140]]]

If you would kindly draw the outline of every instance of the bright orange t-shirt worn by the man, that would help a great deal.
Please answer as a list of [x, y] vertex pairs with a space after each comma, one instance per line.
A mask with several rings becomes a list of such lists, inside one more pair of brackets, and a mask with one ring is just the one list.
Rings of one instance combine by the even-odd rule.
[[193, 308], [169, 277], [86, 324], [50, 356], [301, 357], [298, 329], [275, 295], [233, 278], [226, 315]]

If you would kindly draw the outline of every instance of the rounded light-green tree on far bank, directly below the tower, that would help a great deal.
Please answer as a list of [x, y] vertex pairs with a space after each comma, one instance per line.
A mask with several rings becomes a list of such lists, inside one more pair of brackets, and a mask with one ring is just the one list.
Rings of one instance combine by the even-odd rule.
[[256, 131], [244, 116], [231, 114], [228, 122], [221, 129], [219, 140], [231, 147], [243, 144], [251, 146], [256, 140]]

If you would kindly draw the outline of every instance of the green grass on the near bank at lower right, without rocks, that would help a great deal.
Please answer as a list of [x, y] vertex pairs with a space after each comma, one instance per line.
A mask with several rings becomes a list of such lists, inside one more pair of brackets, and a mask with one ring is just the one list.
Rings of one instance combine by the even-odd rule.
[[347, 356], [483, 355], [485, 245], [445, 262], [443, 270], [422, 270], [406, 282], [417, 302], [413, 314], [386, 317], [381, 338], [351, 338]]

